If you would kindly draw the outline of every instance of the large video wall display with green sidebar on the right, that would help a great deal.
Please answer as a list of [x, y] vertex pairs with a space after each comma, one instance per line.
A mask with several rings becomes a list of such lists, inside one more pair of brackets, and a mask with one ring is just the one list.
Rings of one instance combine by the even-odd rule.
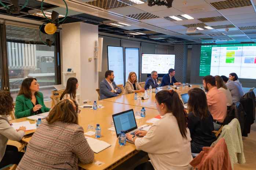
[[201, 45], [200, 76], [256, 79], [256, 44]]

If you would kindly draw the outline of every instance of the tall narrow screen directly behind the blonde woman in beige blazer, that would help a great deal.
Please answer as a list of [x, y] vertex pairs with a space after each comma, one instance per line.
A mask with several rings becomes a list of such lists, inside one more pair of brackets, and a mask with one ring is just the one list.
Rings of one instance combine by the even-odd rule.
[[128, 80], [130, 72], [135, 72], [137, 79], [139, 76], [139, 49], [125, 48], [125, 82]]

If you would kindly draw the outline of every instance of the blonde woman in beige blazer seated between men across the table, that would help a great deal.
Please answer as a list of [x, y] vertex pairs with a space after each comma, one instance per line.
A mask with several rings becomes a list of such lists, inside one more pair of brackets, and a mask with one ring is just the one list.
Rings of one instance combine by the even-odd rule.
[[[137, 90], [139, 89], [139, 90]], [[125, 84], [124, 92], [122, 95], [134, 93], [134, 92], [145, 92], [145, 89], [140, 87], [137, 75], [135, 72], [130, 72], [128, 76], [128, 80]]]

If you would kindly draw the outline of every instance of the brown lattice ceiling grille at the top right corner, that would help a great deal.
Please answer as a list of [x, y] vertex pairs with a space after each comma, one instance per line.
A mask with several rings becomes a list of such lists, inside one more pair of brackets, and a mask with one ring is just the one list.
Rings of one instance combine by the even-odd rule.
[[250, 6], [252, 5], [252, 3], [250, 2], [250, 0], [227, 0], [211, 3], [211, 5], [215, 7], [217, 10], [223, 10], [228, 8]]

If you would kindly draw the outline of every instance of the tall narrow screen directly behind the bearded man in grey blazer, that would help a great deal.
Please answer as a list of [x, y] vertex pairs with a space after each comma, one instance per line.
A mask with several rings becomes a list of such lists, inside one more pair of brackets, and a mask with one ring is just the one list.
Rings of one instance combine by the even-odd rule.
[[114, 82], [124, 84], [124, 53], [122, 47], [107, 46], [109, 70], [114, 71]]

